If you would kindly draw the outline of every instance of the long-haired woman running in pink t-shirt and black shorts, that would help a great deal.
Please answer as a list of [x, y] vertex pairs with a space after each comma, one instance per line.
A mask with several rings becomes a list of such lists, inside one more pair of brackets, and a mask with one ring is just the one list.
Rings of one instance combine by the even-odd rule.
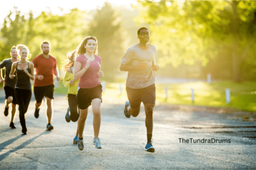
[[79, 80], [79, 90], [77, 91], [77, 99], [79, 101], [80, 116], [78, 120], [79, 139], [77, 146], [79, 150], [84, 150], [84, 141], [82, 133], [84, 132], [85, 120], [88, 114], [88, 107], [92, 104], [93, 111], [93, 145], [96, 148], [102, 148], [100, 138], [101, 125], [101, 102], [102, 102], [102, 86], [99, 78], [102, 78], [103, 71], [101, 69], [101, 57], [97, 54], [96, 37], [86, 37], [77, 47], [77, 58], [75, 61], [74, 80]]

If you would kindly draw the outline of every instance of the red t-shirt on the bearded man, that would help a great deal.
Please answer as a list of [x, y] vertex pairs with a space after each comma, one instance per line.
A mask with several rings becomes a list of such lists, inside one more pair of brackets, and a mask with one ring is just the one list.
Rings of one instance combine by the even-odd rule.
[[40, 54], [39, 56], [36, 56], [32, 62], [34, 63], [34, 67], [36, 69], [36, 75], [44, 76], [43, 80], [35, 78], [34, 86], [39, 87], [54, 84], [53, 74], [55, 74], [55, 69], [57, 67], [57, 59], [53, 56], [44, 58], [43, 54]]

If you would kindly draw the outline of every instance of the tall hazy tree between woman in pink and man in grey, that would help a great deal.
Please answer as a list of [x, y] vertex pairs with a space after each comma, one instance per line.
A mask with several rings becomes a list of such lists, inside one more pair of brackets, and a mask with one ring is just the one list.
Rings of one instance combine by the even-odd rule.
[[88, 35], [97, 38], [98, 55], [102, 58], [101, 70], [104, 71], [106, 78], [113, 79], [124, 54], [125, 32], [121, 25], [121, 17], [110, 3], [105, 2], [104, 7], [97, 10], [89, 24]]

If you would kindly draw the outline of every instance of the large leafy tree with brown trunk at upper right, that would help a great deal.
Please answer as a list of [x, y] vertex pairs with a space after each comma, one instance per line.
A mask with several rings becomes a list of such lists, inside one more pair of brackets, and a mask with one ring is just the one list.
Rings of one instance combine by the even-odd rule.
[[[240, 80], [241, 62], [248, 58], [245, 51], [255, 49], [255, 1], [140, 1], [140, 4], [145, 8], [140, 17], [151, 25], [152, 41], [163, 50], [163, 62], [180, 65], [184, 61], [192, 65], [201, 61], [206, 66], [211, 59], [226, 53], [220, 46], [228, 46], [232, 54], [225, 57], [232, 58], [233, 80]], [[245, 50], [247, 46], [249, 50]], [[253, 62], [255, 65], [256, 59]]]

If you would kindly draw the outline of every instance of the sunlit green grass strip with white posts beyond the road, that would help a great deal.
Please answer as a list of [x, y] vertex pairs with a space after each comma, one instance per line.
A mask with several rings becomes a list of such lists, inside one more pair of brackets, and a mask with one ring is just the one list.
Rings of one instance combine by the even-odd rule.
[[[164, 87], [168, 87], [168, 99]], [[119, 83], [106, 82], [106, 91], [102, 94], [105, 99], [112, 101], [127, 100], [125, 82], [122, 82], [122, 94], [119, 92]], [[194, 89], [195, 102], [191, 100], [191, 88]], [[231, 102], [226, 104], [225, 89], [230, 89]], [[57, 94], [67, 94], [62, 81], [59, 88], [55, 89]], [[191, 82], [182, 84], [156, 84], [156, 103], [171, 105], [199, 105], [208, 107], [238, 108], [243, 111], [256, 112], [256, 83], [243, 82], [234, 83], [230, 81], [213, 82]]]

